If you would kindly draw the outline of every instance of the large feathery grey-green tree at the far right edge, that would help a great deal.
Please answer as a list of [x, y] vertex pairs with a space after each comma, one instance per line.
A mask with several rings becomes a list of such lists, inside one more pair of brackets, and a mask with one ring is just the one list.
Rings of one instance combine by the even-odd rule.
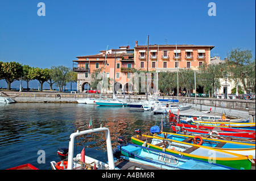
[[243, 89], [248, 92], [249, 87], [255, 91], [255, 58], [251, 50], [234, 48], [228, 52], [227, 69], [236, 83], [241, 82]]

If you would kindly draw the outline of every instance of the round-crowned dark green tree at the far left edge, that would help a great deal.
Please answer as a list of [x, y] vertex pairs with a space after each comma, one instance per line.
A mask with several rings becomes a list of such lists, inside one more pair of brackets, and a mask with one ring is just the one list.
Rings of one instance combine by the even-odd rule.
[[23, 67], [18, 62], [2, 62], [0, 66], [0, 77], [7, 82], [7, 90], [11, 90], [11, 83], [19, 81], [22, 76]]

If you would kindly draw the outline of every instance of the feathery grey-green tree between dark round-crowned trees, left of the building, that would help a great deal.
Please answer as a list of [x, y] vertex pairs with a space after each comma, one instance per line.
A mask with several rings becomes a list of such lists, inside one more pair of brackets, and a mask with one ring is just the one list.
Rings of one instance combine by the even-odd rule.
[[67, 85], [67, 82], [69, 82], [68, 75], [71, 69], [63, 65], [52, 66], [51, 69], [52, 80], [55, 81], [55, 84], [59, 87], [59, 91], [63, 92], [63, 86]]

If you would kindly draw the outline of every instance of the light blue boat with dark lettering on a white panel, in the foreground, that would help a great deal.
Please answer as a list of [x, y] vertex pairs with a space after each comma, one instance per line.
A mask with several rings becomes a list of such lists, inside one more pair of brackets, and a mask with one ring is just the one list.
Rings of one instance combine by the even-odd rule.
[[232, 167], [208, 163], [130, 143], [118, 145], [117, 148], [126, 157], [159, 164], [164, 168], [167, 167], [168, 170], [233, 170]]

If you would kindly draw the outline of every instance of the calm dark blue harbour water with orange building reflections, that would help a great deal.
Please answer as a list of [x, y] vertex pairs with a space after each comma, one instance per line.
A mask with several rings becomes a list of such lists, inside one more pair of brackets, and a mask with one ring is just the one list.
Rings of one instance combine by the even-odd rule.
[[[150, 128], [159, 125], [162, 119], [162, 115], [132, 111], [129, 107], [72, 103], [0, 104], [0, 169], [25, 163], [38, 169], [51, 169], [49, 162], [60, 161], [57, 148], [68, 147], [71, 133], [88, 129], [90, 117], [93, 128], [102, 124], [110, 129], [113, 146], [117, 144], [118, 136], [125, 136], [130, 141], [135, 128], [150, 133]], [[168, 122], [165, 123], [164, 131], [169, 131]], [[104, 133], [79, 137], [76, 145], [77, 154], [85, 146], [87, 155], [106, 160]], [[45, 151], [46, 163], [38, 163], [39, 150]]]

